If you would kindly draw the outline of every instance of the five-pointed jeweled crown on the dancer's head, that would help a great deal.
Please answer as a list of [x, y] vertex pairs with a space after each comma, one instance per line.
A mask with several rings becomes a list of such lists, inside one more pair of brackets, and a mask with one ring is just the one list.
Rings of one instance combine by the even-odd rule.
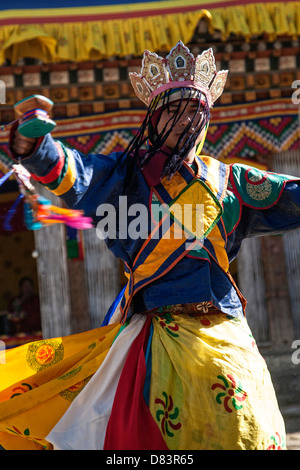
[[217, 72], [211, 48], [194, 57], [181, 41], [165, 59], [146, 50], [141, 73], [129, 73], [136, 95], [147, 106], [165, 90], [186, 87], [202, 91], [210, 108], [223, 93], [227, 75], [228, 70]]

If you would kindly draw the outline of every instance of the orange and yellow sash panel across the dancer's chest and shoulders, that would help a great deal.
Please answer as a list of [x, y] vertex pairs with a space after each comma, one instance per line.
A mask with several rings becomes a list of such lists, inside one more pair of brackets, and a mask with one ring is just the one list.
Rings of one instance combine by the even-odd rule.
[[[221, 233], [218, 228], [223, 213], [221, 201], [227, 187], [228, 168], [210, 157], [205, 157], [205, 161], [197, 157], [197, 165], [197, 175], [184, 163], [171, 180], [165, 178], [153, 188], [164, 205], [165, 214], [143, 243], [133, 265], [126, 265], [128, 282], [121, 302], [123, 321], [133, 295], [169, 272], [199, 240], [205, 240], [209, 235], [217, 262], [228, 269], [223, 231]], [[200, 233], [196, 230], [198, 206], [203, 209]], [[182, 219], [187, 207], [190, 211], [189, 223]]]

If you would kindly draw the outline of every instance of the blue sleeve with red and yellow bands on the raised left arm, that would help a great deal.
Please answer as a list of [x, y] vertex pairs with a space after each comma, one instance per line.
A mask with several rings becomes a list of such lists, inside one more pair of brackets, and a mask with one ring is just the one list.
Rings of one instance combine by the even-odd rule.
[[117, 203], [128, 158], [123, 152], [85, 156], [48, 134], [22, 164], [34, 180], [61, 197], [68, 207], [82, 209], [94, 217], [99, 204]]

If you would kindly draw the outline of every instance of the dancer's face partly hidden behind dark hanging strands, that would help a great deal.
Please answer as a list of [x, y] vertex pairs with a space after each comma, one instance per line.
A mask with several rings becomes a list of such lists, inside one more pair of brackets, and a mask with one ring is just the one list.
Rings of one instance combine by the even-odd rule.
[[[179, 147], [181, 147], [186, 139], [189, 138], [191, 133], [199, 132], [202, 125], [202, 111], [198, 110], [198, 100], [183, 100], [179, 106], [178, 101], [169, 103], [168, 106], [164, 108], [161, 113], [160, 119], [157, 123], [157, 133], [160, 134], [164, 130], [167, 132], [172, 127], [173, 119], [175, 113], [177, 113], [176, 123], [168, 135], [167, 139], [164, 142], [164, 145], [170, 149], [174, 149], [177, 145], [178, 140], [182, 136], [183, 132], [186, 130], [186, 134], [181, 138]], [[195, 147], [202, 141], [205, 135], [205, 126], [200, 132], [199, 136], [195, 141]]]

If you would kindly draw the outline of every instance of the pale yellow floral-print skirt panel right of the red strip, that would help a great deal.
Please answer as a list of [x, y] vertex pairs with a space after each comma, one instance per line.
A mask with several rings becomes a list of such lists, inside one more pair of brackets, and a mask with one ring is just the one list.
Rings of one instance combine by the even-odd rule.
[[153, 321], [150, 409], [170, 448], [281, 449], [285, 427], [244, 317]]

